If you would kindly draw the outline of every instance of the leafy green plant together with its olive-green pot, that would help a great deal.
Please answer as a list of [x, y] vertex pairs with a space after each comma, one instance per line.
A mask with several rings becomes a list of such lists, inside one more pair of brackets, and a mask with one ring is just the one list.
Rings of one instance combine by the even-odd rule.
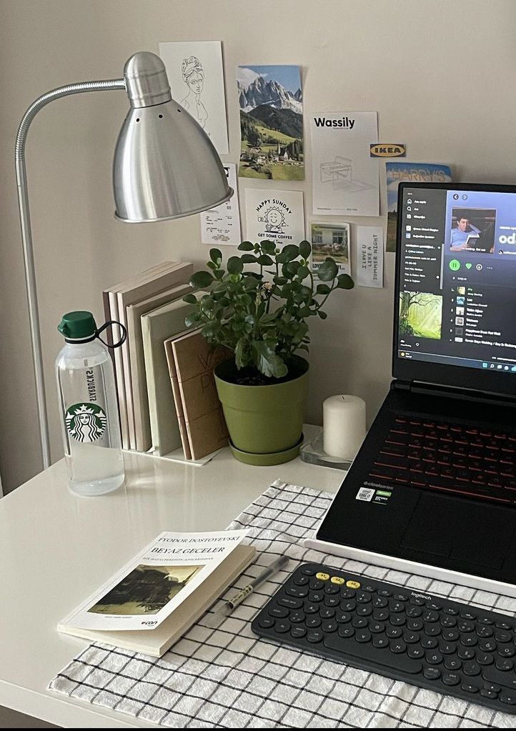
[[283, 249], [244, 241], [238, 249], [244, 253], [229, 257], [225, 269], [221, 251], [211, 249], [208, 270], [191, 277], [192, 287], [209, 291], [183, 298], [194, 305], [186, 325], [234, 354], [215, 369], [233, 455], [279, 464], [303, 441], [308, 362], [296, 353], [308, 351], [308, 318], [326, 319], [327, 298], [354, 284], [330, 257], [314, 274], [308, 241]]

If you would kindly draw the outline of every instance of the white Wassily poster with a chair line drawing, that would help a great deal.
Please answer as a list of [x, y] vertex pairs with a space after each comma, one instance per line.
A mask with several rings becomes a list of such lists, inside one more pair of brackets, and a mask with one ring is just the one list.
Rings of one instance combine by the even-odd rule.
[[376, 112], [318, 113], [309, 117], [314, 216], [378, 216]]

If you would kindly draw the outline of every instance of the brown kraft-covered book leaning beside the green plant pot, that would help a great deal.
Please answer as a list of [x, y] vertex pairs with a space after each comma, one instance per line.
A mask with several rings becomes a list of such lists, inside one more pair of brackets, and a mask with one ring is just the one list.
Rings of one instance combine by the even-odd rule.
[[183, 448], [200, 459], [226, 447], [228, 432], [217, 395], [213, 368], [231, 357], [227, 348], [213, 348], [200, 330], [164, 341], [175, 407], [184, 426]]

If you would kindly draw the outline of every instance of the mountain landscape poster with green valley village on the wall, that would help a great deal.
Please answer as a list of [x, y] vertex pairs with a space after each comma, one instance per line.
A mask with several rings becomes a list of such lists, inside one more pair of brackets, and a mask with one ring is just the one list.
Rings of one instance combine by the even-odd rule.
[[298, 66], [239, 66], [243, 178], [302, 181], [303, 91]]

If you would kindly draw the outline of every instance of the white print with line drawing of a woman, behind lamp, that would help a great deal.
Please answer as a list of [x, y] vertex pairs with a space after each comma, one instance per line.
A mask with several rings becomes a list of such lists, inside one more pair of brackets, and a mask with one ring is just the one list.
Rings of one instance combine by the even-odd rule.
[[172, 97], [199, 122], [216, 151], [229, 153], [220, 41], [159, 44]]

